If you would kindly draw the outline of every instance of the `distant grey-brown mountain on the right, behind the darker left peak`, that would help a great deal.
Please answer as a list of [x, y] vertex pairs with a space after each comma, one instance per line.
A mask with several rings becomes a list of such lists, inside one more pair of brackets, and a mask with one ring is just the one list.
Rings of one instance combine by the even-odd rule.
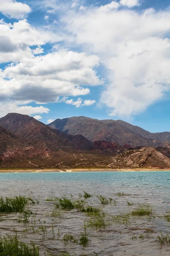
[[82, 134], [91, 141], [108, 141], [119, 145], [161, 146], [170, 148], [170, 132], [150, 133], [122, 120], [97, 120], [85, 116], [57, 119], [51, 128], [59, 129], [69, 134]]

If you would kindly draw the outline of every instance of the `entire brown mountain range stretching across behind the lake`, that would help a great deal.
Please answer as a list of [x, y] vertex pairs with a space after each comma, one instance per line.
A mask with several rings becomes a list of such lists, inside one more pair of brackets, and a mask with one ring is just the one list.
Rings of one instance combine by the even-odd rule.
[[28, 115], [0, 118], [0, 168], [170, 167], [170, 133], [84, 116], [49, 125]]

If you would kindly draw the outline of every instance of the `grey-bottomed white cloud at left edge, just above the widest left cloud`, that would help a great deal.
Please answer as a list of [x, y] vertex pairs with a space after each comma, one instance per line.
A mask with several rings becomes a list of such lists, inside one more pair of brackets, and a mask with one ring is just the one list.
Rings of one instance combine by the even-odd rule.
[[[59, 33], [35, 29], [26, 19], [5, 23], [0, 20], [0, 63], [29, 62], [34, 54], [42, 53], [41, 46], [46, 43], [62, 41]], [[36, 50], [30, 47], [37, 46]], [[38, 53], [37, 53], [38, 52]]]

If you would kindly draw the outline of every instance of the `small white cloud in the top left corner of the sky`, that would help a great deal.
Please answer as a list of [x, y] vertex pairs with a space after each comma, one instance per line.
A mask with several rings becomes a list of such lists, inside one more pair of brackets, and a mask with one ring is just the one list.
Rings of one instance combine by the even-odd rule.
[[23, 19], [31, 12], [31, 8], [15, 0], [0, 0], [0, 12], [10, 18]]

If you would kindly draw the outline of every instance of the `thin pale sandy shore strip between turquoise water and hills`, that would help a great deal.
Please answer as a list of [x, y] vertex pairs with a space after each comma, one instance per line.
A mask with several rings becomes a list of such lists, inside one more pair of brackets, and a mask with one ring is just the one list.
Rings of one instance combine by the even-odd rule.
[[170, 169], [155, 168], [129, 168], [129, 169], [106, 169], [106, 168], [83, 168], [83, 169], [0, 169], [0, 173], [20, 172], [164, 172]]

